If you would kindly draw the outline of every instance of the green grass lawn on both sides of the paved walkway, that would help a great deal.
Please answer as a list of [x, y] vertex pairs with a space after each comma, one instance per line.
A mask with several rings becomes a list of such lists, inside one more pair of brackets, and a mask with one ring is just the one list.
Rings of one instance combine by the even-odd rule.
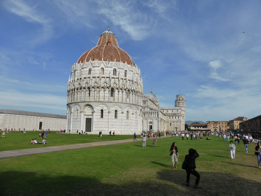
[[[50, 141], [51, 137], [72, 143], [70, 140], [85, 143], [111, 138], [86, 135], [86, 141], [79, 142], [81, 136], [85, 135], [51, 133]], [[141, 141], [135, 141], [1, 159], [0, 195], [258, 195], [261, 171], [254, 155], [256, 144], [249, 145], [248, 153], [242, 143], [236, 145], [232, 160], [229, 142], [218, 136], [210, 138], [210, 141], [187, 141], [167, 137], [158, 139], [157, 147], [153, 147], [150, 139], [145, 148], [141, 147]], [[3, 140], [0, 139], [1, 148], [7, 148]], [[29, 138], [18, 140], [16, 145], [29, 141]], [[172, 142], [177, 143], [180, 154], [175, 170], [169, 155]], [[193, 189], [194, 176], [190, 178], [192, 186], [184, 186], [186, 171], [181, 165], [189, 148], [200, 155], [196, 170], [201, 175], [199, 186], [203, 189]]]

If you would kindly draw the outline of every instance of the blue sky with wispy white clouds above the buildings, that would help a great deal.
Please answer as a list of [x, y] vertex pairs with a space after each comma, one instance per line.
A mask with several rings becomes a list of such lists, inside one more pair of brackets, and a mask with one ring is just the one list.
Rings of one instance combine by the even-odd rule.
[[184, 94], [186, 120], [258, 116], [260, 16], [261, 1], [2, 0], [0, 108], [66, 115], [70, 68], [109, 26], [160, 107]]

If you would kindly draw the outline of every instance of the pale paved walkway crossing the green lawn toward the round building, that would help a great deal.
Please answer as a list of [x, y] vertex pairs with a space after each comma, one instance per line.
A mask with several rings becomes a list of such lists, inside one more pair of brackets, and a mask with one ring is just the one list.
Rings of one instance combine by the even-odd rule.
[[[137, 141], [141, 141], [141, 140], [142, 140], [141, 138], [137, 139]], [[79, 149], [79, 148], [87, 148], [87, 147], [93, 147], [93, 146], [121, 144], [121, 143], [128, 143], [128, 142], [134, 142], [134, 141], [133, 141], [133, 139], [127, 139], [127, 140], [70, 144], [70, 145], [63, 145], [63, 146], [28, 148], [28, 149], [13, 150], [13, 151], [2, 151], [2, 152], [0, 152], [0, 159], [11, 158], [11, 157], [20, 157], [20, 156], [31, 155], [31, 154], [40, 154], [40, 153], [46, 153], [46, 152], [56, 152], [56, 151], [72, 150], [72, 149]]]

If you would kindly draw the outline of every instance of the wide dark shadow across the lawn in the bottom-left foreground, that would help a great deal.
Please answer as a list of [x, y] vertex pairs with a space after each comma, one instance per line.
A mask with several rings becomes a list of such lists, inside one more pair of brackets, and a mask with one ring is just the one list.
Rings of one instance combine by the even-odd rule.
[[[169, 172], [162, 174], [167, 173]], [[104, 182], [98, 180], [96, 177], [68, 175], [51, 177], [44, 174], [39, 176], [35, 172], [6, 171], [0, 173], [0, 175], [2, 179], [4, 179], [0, 184], [0, 195], [4, 196], [170, 196], [173, 195], [174, 187], [175, 191], [177, 191], [176, 193], [181, 193], [178, 195], [192, 195], [189, 194], [189, 189], [182, 191], [182, 187], [176, 186], [177, 182], [173, 182], [174, 186], [172, 181], [168, 186], [165, 184], [166, 181], [161, 180], [156, 180], [156, 183], [151, 183], [151, 178], [146, 178], [146, 176], [144, 176], [144, 178], [141, 176], [141, 179], [138, 181], [119, 177], [112, 178], [111, 182]], [[144, 173], [141, 172], [141, 175], [144, 175]], [[153, 180], [153, 182], [155, 182], [155, 180]]]

